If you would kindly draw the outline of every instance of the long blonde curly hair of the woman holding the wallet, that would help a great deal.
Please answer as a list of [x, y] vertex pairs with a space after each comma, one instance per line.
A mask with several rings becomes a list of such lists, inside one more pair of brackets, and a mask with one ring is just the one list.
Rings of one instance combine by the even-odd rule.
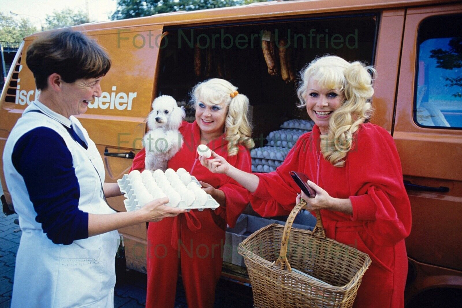
[[372, 116], [372, 82], [376, 74], [371, 66], [359, 61], [350, 63], [336, 55], [317, 58], [300, 72], [299, 108], [306, 106], [310, 79], [325, 89], [337, 89], [344, 95], [344, 102], [330, 116], [328, 133], [321, 135], [322, 155], [334, 166], [345, 165], [346, 154], [353, 148], [353, 134]]

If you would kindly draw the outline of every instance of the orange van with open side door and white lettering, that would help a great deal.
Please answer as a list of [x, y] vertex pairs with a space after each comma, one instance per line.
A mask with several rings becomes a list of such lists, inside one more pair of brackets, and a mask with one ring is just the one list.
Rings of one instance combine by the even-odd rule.
[[[108, 49], [113, 63], [102, 96], [78, 117], [103, 157], [106, 179], [116, 181], [143, 147], [152, 100], [169, 94], [187, 102], [201, 80], [221, 76], [249, 96], [257, 147], [284, 121], [306, 117], [296, 109], [296, 84], [268, 74], [262, 39], [287, 39], [292, 73], [326, 53], [373, 64], [378, 77], [371, 121], [395, 139], [412, 204], [406, 301], [460, 302], [461, 20], [461, 3], [452, 0], [300, 0], [76, 26]], [[1, 94], [0, 151], [38, 94], [23, 59], [38, 35], [24, 38]], [[189, 110], [188, 120], [193, 115]], [[11, 196], [0, 174], [6, 210]], [[110, 203], [123, 211], [122, 199]], [[119, 231], [127, 267], [146, 271], [146, 224]], [[245, 269], [230, 264], [223, 276], [248, 283]]]

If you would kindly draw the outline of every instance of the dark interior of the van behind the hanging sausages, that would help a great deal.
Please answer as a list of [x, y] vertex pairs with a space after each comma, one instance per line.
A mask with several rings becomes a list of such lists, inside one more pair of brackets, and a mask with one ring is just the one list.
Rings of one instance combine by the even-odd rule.
[[[276, 41], [287, 38], [287, 52], [292, 55], [295, 74], [316, 57], [326, 54], [371, 64], [377, 18], [377, 14], [367, 13], [258, 24], [166, 28], [167, 40], [164, 38], [160, 46], [157, 94], [171, 95], [179, 102], [188, 103], [190, 91], [198, 82], [209, 78], [231, 81], [239, 93], [249, 97], [255, 147], [262, 147], [266, 145], [264, 137], [284, 121], [309, 117], [306, 111], [297, 108], [297, 82], [285, 82], [280, 74], [268, 74], [257, 35], [270, 31], [275, 37], [277, 34]], [[195, 74], [195, 43], [201, 47], [200, 75]], [[187, 116], [188, 121], [194, 121], [194, 110], [187, 108]]]

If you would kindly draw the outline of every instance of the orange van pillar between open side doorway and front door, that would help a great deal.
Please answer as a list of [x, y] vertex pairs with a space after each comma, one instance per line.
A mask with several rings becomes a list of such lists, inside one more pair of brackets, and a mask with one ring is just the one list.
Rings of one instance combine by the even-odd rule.
[[398, 82], [398, 69], [401, 50], [401, 33], [404, 27], [405, 10], [388, 10], [382, 13], [377, 37], [377, 50], [374, 66], [377, 78], [374, 81], [374, 115], [371, 122], [391, 132], [393, 110]]

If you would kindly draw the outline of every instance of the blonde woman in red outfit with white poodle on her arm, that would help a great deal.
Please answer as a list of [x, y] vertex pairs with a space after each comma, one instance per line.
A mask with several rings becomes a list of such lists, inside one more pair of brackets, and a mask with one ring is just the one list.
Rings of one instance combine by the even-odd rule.
[[[150, 223], [147, 251], [146, 307], [172, 308], [181, 271], [189, 308], [211, 308], [221, 276], [226, 224], [233, 227], [249, 203], [247, 190], [225, 174], [213, 174], [201, 165], [197, 146], [207, 144], [232, 166], [251, 171], [251, 129], [247, 120], [249, 99], [222, 79], [194, 87], [195, 122], [183, 122], [183, 146], [168, 162], [182, 167], [201, 181], [204, 190], [220, 204], [216, 210], [191, 210], [176, 219]], [[143, 171], [145, 151], [135, 157], [132, 170]]]

